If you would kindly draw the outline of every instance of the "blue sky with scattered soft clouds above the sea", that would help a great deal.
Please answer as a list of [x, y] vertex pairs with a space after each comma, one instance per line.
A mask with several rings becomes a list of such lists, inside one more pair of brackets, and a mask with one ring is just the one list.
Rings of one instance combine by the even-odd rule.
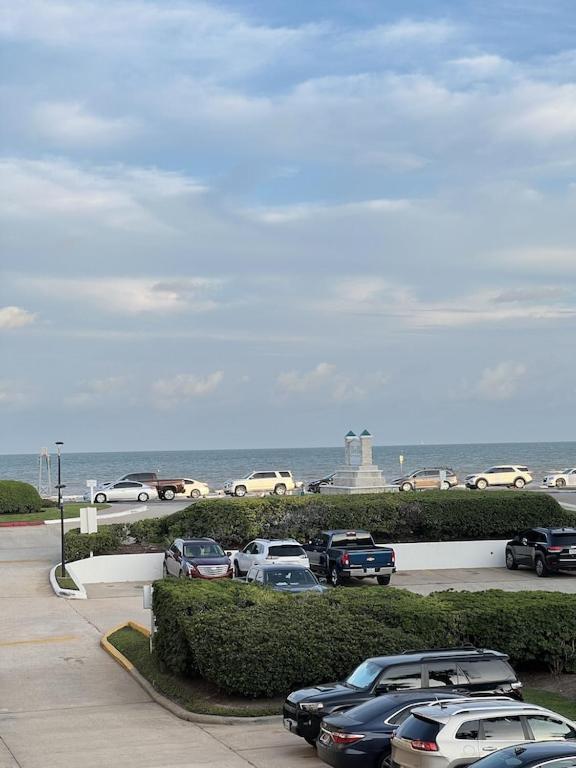
[[573, 440], [573, 0], [0, 0], [0, 453]]

